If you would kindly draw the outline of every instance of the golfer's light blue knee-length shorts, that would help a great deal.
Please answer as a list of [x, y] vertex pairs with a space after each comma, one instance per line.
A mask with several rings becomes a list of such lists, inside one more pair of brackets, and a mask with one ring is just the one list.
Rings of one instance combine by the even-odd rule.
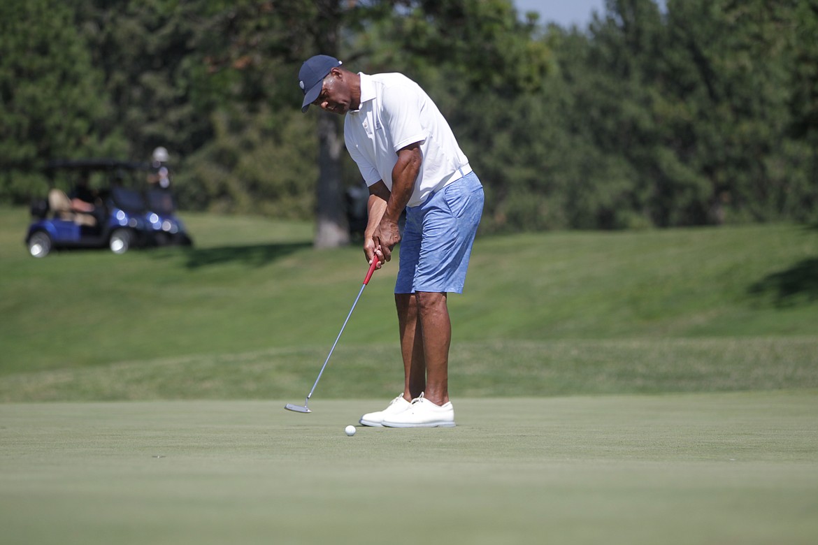
[[395, 293], [463, 293], [482, 214], [483, 185], [474, 172], [408, 207]]

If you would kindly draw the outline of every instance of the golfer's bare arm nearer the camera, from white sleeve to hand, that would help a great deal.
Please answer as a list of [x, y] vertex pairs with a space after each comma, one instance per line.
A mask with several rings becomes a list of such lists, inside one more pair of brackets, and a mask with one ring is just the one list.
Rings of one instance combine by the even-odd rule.
[[392, 169], [392, 194], [389, 195], [383, 216], [372, 234], [373, 244], [375, 248], [380, 247], [384, 261], [392, 259], [392, 248], [401, 240], [398, 220], [403, 209], [407, 207], [412, 191], [415, 190], [415, 181], [422, 162], [420, 142], [398, 150], [398, 162]]

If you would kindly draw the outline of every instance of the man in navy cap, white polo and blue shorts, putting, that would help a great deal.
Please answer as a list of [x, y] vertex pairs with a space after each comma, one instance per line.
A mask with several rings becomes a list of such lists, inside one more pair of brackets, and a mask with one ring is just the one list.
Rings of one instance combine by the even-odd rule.
[[[344, 140], [366, 185], [363, 249], [390, 261], [401, 242], [395, 285], [404, 387], [365, 426], [453, 427], [448, 394], [452, 339], [447, 293], [462, 293], [483, 185], [432, 99], [402, 74], [354, 74], [331, 56], [299, 71], [302, 111], [314, 104], [344, 115]], [[398, 218], [407, 211], [403, 238]], [[380, 267], [380, 265], [379, 265]]]

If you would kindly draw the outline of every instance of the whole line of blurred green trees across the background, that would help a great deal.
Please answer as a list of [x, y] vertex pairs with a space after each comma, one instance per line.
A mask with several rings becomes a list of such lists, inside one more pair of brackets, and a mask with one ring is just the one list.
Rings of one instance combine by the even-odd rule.
[[0, 202], [162, 145], [185, 208], [342, 228], [341, 120], [299, 110], [319, 52], [425, 87], [488, 232], [818, 219], [818, 0], [607, 0], [586, 28], [510, 0], [6, 0]]

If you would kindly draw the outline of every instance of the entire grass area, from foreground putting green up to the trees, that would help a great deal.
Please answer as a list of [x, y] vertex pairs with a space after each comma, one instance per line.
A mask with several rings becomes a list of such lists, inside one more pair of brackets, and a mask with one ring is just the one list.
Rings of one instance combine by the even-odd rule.
[[0, 542], [818, 539], [818, 231], [480, 238], [449, 300], [458, 427], [347, 437], [402, 388], [395, 264], [289, 413], [360, 249], [183, 219], [191, 250], [35, 260], [0, 209]]

